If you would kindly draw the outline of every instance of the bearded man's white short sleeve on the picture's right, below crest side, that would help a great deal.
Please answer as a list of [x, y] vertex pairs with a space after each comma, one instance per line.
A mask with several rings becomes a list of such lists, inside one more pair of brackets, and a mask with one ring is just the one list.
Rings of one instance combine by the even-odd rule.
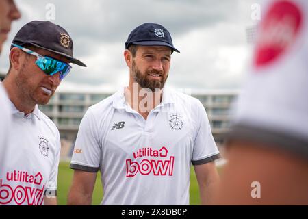
[[194, 118], [196, 121], [196, 131], [192, 164], [201, 165], [220, 158], [220, 153], [211, 133], [211, 126], [209, 125], [207, 113], [199, 100], [196, 101], [196, 112], [194, 116], [196, 116]]

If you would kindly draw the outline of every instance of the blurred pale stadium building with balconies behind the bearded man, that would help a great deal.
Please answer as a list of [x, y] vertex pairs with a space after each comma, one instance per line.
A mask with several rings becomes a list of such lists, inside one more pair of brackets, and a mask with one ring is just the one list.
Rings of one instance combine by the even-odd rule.
[[[0, 74], [1, 78], [1, 74]], [[2, 74], [3, 78], [3, 74]], [[86, 110], [114, 92], [62, 92], [57, 90], [47, 105], [39, 108], [53, 120], [62, 139], [62, 157], [70, 156], [73, 150], [79, 124]], [[224, 133], [229, 128], [231, 104], [238, 95], [237, 90], [208, 90], [192, 92], [203, 103], [211, 130], [218, 146], [224, 141]]]

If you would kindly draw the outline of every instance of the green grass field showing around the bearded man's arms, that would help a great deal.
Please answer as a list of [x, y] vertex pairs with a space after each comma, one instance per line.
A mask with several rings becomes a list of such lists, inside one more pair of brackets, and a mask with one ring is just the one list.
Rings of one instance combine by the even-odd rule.
[[[59, 205], [66, 205], [68, 190], [72, 183], [73, 170], [69, 168], [68, 162], [60, 162], [59, 175], [57, 177], [57, 201]], [[93, 192], [92, 205], [99, 205], [103, 197], [103, 189], [101, 186], [101, 174], [97, 175], [97, 182]], [[194, 168], [191, 168], [190, 176], [190, 205], [200, 205], [200, 197], [198, 190], [198, 183]]]

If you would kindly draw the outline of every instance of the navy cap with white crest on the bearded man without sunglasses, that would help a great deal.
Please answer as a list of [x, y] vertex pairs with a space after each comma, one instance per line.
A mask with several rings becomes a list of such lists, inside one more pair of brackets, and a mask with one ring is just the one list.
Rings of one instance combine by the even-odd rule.
[[172, 51], [180, 52], [173, 47], [169, 31], [157, 23], [144, 23], [133, 29], [125, 42], [125, 49], [128, 49], [131, 44], [142, 46], [166, 46], [170, 47]]

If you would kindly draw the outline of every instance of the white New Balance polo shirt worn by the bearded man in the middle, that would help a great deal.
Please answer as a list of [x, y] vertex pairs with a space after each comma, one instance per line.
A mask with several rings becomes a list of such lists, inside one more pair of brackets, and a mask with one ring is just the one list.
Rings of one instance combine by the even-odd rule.
[[198, 99], [164, 88], [144, 120], [123, 89], [88, 109], [70, 167], [101, 171], [102, 205], [189, 205], [190, 164], [218, 157]]

